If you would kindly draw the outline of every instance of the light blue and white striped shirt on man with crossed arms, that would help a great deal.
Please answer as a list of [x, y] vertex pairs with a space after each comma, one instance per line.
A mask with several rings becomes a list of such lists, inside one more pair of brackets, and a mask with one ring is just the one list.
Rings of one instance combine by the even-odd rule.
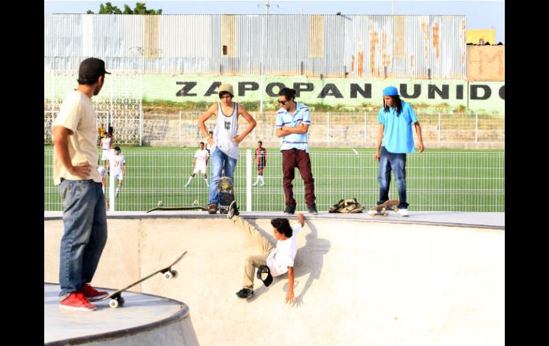
[[[295, 127], [299, 126], [300, 123], [311, 126], [311, 113], [309, 112], [309, 107], [297, 102], [296, 105], [297, 110], [293, 116], [284, 108], [280, 108], [277, 111], [277, 121], [275, 123], [275, 127]], [[288, 136], [280, 137], [281, 151], [292, 148], [301, 149], [309, 153], [309, 133], [292, 133]]]

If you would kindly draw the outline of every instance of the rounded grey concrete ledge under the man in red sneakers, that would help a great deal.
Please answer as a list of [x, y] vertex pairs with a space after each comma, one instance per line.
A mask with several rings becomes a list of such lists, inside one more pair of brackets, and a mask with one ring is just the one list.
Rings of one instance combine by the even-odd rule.
[[81, 312], [60, 309], [58, 292], [59, 285], [44, 283], [44, 345], [198, 345], [183, 302], [124, 292], [124, 307], [105, 300]]

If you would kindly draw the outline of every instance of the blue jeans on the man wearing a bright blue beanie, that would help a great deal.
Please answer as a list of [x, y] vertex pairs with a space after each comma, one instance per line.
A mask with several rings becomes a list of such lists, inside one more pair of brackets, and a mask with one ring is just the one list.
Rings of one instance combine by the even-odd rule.
[[384, 146], [379, 153], [379, 201], [377, 205], [389, 200], [389, 184], [391, 183], [391, 170], [394, 172], [396, 187], [399, 189], [399, 209], [408, 208], [406, 203], [406, 154], [389, 153]]

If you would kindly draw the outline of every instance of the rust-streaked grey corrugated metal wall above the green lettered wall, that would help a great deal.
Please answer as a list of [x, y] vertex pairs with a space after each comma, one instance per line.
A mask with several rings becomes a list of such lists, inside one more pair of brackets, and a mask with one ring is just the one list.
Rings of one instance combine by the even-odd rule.
[[466, 78], [465, 16], [44, 14], [44, 68]]

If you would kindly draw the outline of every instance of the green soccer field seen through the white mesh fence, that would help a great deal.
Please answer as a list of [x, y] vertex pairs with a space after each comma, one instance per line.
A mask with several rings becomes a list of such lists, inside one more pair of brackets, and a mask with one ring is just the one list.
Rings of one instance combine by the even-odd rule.
[[[122, 148], [126, 175], [115, 210], [148, 210], [162, 200], [165, 206], [190, 206], [194, 200], [207, 205], [208, 189], [198, 174], [188, 188], [196, 148]], [[255, 148], [250, 148], [251, 153]], [[342, 198], [356, 198], [370, 208], [379, 198], [378, 163], [372, 149], [312, 149], [314, 192], [319, 211]], [[252, 187], [251, 210], [284, 210], [282, 156], [267, 148], [265, 186]], [[44, 210], [62, 210], [58, 188], [53, 186], [53, 147], [44, 146]], [[208, 178], [210, 163], [208, 163]], [[256, 181], [255, 164], [251, 183]], [[235, 195], [247, 210], [246, 148], [240, 151], [235, 170]], [[297, 210], [306, 210], [304, 186], [295, 171]], [[107, 188], [109, 188], [109, 184]], [[411, 211], [505, 211], [505, 151], [427, 150], [406, 159], [406, 192]], [[108, 197], [108, 191], [106, 192]], [[391, 199], [399, 199], [391, 180]]]

